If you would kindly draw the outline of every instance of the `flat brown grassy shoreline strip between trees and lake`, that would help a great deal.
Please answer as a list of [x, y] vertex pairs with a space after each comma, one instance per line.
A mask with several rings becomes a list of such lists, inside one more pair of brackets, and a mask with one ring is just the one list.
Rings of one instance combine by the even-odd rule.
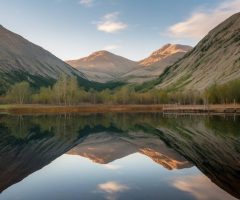
[[0, 114], [63, 114], [63, 113], [160, 112], [164, 114], [240, 114], [240, 104], [218, 105], [113, 105], [86, 104], [77, 106], [24, 104], [0, 105]]

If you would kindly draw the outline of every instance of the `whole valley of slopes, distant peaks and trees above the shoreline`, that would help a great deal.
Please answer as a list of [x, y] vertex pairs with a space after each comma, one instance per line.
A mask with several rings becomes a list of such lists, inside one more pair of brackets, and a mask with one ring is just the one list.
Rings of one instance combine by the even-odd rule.
[[234, 14], [194, 48], [166, 44], [137, 62], [102, 50], [65, 63], [1, 26], [0, 102], [235, 105], [240, 103], [239, 20]]

